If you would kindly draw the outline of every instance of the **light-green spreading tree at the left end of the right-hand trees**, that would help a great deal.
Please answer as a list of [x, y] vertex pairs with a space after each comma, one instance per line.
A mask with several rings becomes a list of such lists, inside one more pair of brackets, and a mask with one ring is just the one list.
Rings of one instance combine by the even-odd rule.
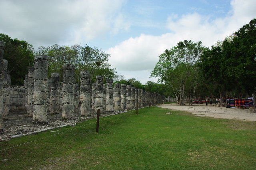
[[202, 46], [201, 42], [195, 43], [187, 40], [179, 42], [178, 45], [170, 50], [166, 49], [159, 56], [159, 61], [150, 77], [158, 77], [159, 82], [169, 85], [169, 88], [175, 94], [177, 93], [180, 104], [184, 105], [184, 97], [193, 96], [186, 94], [186, 92], [194, 92], [192, 89], [197, 86], [197, 83], [192, 81], [197, 80], [197, 63], [204, 49], [205, 47]]

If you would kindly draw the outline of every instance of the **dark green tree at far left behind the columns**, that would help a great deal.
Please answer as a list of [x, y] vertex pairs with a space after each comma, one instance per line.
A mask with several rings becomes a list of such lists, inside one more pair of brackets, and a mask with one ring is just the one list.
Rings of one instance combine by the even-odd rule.
[[33, 66], [33, 46], [26, 41], [10, 38], [8, 35], [0, 34], [0, 40], [5, 43], [4, 59], [8, 60], [11, 83], [23, 85], [28, 67]]

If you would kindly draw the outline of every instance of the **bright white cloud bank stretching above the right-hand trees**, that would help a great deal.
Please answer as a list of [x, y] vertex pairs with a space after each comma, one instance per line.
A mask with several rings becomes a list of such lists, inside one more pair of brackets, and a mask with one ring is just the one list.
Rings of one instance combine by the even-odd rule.
[[[169, 33], [161, 36], [141, 34], [108, 49], [110, 63], [126, 78], [135, 77], [146, 83], [150, 71], [165, 49], [170, 49], [183, 40], [201, 41], [203, 45], [214, 45], [218, 40], [232, 34], [256, 17], [255, 0], [233, 0], [232, 10], [224, 18], [211, 19], [198, 13], [167, 18]], [[136, 71], [136, 72], [134, 72]], [[134, 74], [131, 74], [134, 73]]]

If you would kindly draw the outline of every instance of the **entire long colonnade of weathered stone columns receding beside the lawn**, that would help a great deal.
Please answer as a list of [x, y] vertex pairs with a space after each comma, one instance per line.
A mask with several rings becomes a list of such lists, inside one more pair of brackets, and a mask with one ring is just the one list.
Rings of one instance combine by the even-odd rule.
[[63, 65], [62, 82], [58, 73], [48, 78], [46, 55], [35, 57], [23, 86], [10, 85], [8, 61], [3, 55], [4, 43], [0, 41], [0, 130], [4, 130], [3, 119], [9, 119], [9, 112], [18, 115], [23, 111], [30, 121], [32, 117], [33, 124], [42, 126], [55, 120], [52, 117], [62, 117], [63, 121], [76, 119], [79, 115], [94, 117], [98, 109], [101, 114], [111, 114], [136, 109], [137, 104], [140, 108], [162, 103], [165, 99], [163, 95], [131, 85], [115, 83], [113, 87], [113, 79], [106, 79], [104, 84], [102, 75], [97, 75], [96, 83], [91, 83], [89, 71], [80, 72], [79, 86], [72, 64]]

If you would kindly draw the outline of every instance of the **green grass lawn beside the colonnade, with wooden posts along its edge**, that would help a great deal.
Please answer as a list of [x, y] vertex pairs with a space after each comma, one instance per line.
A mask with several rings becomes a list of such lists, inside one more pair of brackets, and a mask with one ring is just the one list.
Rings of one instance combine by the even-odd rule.
[[95, 127], [92, 119], [0, 142], [2, 150], [63, 132], [1, 151], [0, 169], [256, 169], [255, 122], [150, 107]]

